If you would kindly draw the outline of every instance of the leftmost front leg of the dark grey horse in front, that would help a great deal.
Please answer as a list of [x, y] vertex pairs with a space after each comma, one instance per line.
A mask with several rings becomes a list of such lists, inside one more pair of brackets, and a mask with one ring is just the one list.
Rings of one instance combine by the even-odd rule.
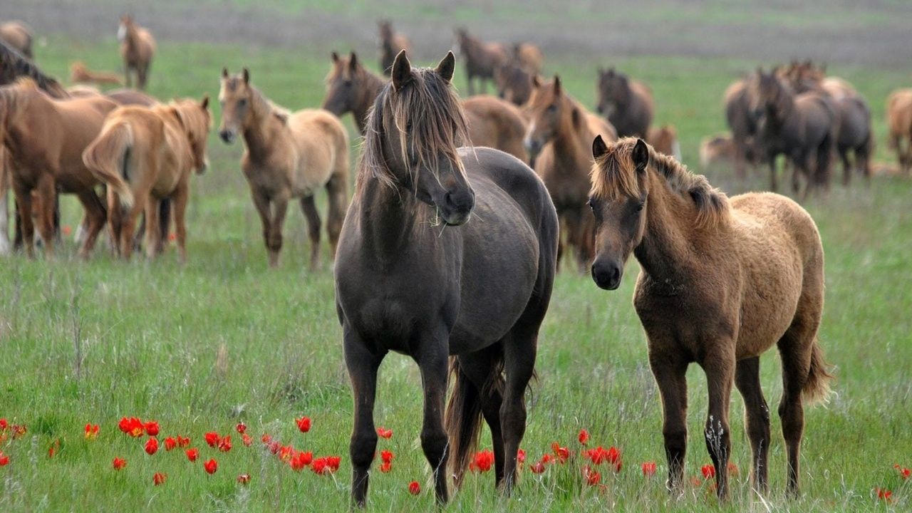
[[368, 472], [377, 450], [374, 399], [377, 395], [377, 370], [384, 354], [369, 351], [366, 342], [347, 326], [343, 331], [345, 363], [355, 396], [355, 425], [348, 445], [352, 468], [351, 498], [363, 508], [368, 496]]

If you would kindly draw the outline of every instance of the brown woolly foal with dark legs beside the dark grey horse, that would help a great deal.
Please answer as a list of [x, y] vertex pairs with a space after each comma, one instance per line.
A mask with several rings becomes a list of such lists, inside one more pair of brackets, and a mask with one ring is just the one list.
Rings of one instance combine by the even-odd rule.
[[596, 215], [596, 285], [614, 290], [632, 252], [634, 306], [662, 398], [668, 487], [678, 489], [687, 449], [690, 362], [706, 372], [706, 446], [719, 497], [728, 495], [732, 383], [744, 397], [753, 486], [767, 488], [770, 414], [760, 355], [782, 356], [782, 434], [788, 489], [798, 493], [803, 400], [825, 398], [830, 374], [817, 329], [824, 309], [824, 248], [814, 220], [779, 194], [727, 198], [706, 178], [642, 140], [593, 142], [589, 205]]

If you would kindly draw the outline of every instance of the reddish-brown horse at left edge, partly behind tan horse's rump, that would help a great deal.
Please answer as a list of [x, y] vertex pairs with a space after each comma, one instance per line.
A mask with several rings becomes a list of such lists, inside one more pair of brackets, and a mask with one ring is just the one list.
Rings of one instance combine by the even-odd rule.
[[40, 205], [39, 232], [45, 254], [54, 253], [57, 191], [76, 194], [89, 219], [88, 236], [79, 249], [88, 257], [105, 223], [105, 209], [95, 194], [98, 180], [82, 162], [105, 116], [117, 104], [102, 96], [52, 99], [32, 79], [0, 88], [0, 135], [9, 152], [22, 233], [28, 257], [34, 257], [33, 196]]

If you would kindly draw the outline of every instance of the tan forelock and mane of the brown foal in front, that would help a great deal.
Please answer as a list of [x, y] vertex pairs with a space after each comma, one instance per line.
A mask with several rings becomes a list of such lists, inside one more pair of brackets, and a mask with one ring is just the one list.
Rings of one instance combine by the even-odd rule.
[[[637, 166], [632, 156], [637, 141], [636, 137], [625, 137], [608, 145], [608, 151], [596, 158], [591, 173], [591, 195], [611, 199], [620, 196], [640, 197]], [[697, 225], [716, 226], [727, 222], [731, 207], [725, 193], [710, 185], [702, 174], [691, 173], [687, 166], [674, 157], [658, 153], [651, 146], [647, 147], [647, 173], [650, 169], [655, 171], [668, 183], [671, 191], [693, 201], [697, 207]]]

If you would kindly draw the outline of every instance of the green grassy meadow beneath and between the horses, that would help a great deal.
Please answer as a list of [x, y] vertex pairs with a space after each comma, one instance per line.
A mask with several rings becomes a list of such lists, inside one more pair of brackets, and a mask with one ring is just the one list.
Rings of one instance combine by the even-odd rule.
[[[51, 37], [41, 49], [42, 65], [66, 76], [67, 64], [82, 58], [90, 68], [118, 68], [116, 44]], [[373, 53], [369, 61], [373, 61]], [[586, 105], [594, 104], [595, 68], [606, 58], [575, 58], [549, 66]], [[756, 63], [707, 58], [610, 59], [654, 89], [658, 121], [674, 123], [685, 162], [696, 162], [702, 137], [724, 128], [720, 96], [741, 71]], [[253, 82], [288, 108], [316, 106], [323, 92], [328, 56], [266, 48], [161, 44], [150, 92], [161, 98], [199, 97], [218, 90], [223, 66], [251, 69]], [[907, 73], [885, 68], [830, 71], [849, 79], [871, 101], [878, 158], [888, 155], [883, 109], [889, 90], [907, 83]], [[463, 83], [461, 68], [458, 84]], [[219, 119], [215, 112], [216, 122]], [[346, 120], [352, 133], [353, 125]], [[355, 149], [353, 149], [353, 152]], [[10, 464], [0, 467], [0, 508], [8, 511], [305, 509], [347, 507], [347, 462], [352, 400], [342, 363], [333, 282], [328, 264], [306, 272], [307, 243], [302, 216], [285, 225], [281, 267], [269, 271], [238, 159], [240, 145], [226, 147], [212, 135], [210, 170], [194, 178], [189, 209], [189, 263], [173, 250], [159, 261], [112, 260], [99, 244], [80, 262], [68, 243], [55, 261], [23, 257], [0, 262], [0, 417], [26, 424], [25, 437], [0, 444]], [[758, 175], [738, 183], [728, 175], [710, 180], [735, 194], [766, 182]], [[836, 367], [838, 393], [827, 407], [809, 409], [803, 444], [803, 497], [784, 497], [785, 461], [779, 419], [772, 419], [771, 486], [768, 497], [751, 494], [743, 408], [732, 401], [732, 461], [741, 469], [733, 500], [723, 510], [859, 511], [912, 508], [909, 485], [894, 464], [912, 466], [912, 183], [876, 179], [870, 187], [834, 186], [826, 198], [806, 206], [820, 226], [826, 250], [824, 351]], [[64, 224], [78, 224], [78, 208], [64, 201]], [[327, 253], [326, 253], [327, 254]], [[555, 283], [544, 323], [539, 379], [529, 396], [529, 426], [523, 448], [529, 462], [552, 442], [579, 448], [586, 428], [590, 445], [617, 445], [624, 467], [602, 468], [605, 487], [586, 487], [579, 463], [554, 466], [541, 476], [527, 469], [510, 501], [493, 491], [493, 476], [471, 476], [448, 510], [695, 510], [717, 508], [708, 484], [690, 486], [669, 499], [662, 485], [667, 470], [660, 433], [660, 405], [646, 363], [646, 344], [630, 297], [637, 264], [622, 287], [598, 290], [569, 269]], [[762, 359], [762, 382], [774, 409], [782, 390], [778, 356]], [[702, 442], [705, 380], [689, 372], [690, 451], [687, 476], [710, 463]], [[380, 373], [377, 424], [394, 431], [378, 449], [395, 453], [389, 474], [375, 473], [369, 509], [431, 509], [430, 471], [420, 451], [420, 379], [414, 364], [393, 355]], [[143, 441], [119, 433], [121, 416], [157, 419], [161, 436], [188, 435], [201, 450], [189, 463], [181, 451], [146, 455]], [[298, 432], [294, 418], [308, 415], [313, 429]], [[244, 421], [254, 446], [244, 447], [233, 426]], [[96, 440], [83, 425], [100, 424]], [[202, 434], [233, 433], [234, 448], [219, 453]], [[262, 450], [261, 434], [312, 450], [341, 455], [336, 476], [295, 473]], [[57, 454], [47, 449], [59, 440]], [[482, 447], [489, 446], [487, 435]], [[116, 472], [115, 456], [128, 460]], [[214, 457], [219, 470], [207, 476], [202, 460]], [[656, 476], [639, 465], [658, 463]], [[168, 480], [152, 486], [152, 475]], [[248, 486], [235, 477], [250, 474]], [[409, 496], [409, 481], [423, 491]], [[894, 492], [878, 502], [876, 487]]]

